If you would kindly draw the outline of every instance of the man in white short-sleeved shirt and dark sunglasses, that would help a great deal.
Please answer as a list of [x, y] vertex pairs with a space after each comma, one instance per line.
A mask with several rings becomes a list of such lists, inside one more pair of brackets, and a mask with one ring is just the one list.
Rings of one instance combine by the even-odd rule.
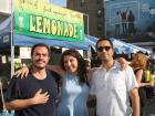
[[[102, 66], [94, 71], [91, 94], [96, 96], [99, 116], [140, 116], [138, 84], [131, 66], [120, 70], [113, 59], [113, 44], [108, 39], [96, 42], [97, 56]], [[132, 108], [130, 105], [132, 101]]]

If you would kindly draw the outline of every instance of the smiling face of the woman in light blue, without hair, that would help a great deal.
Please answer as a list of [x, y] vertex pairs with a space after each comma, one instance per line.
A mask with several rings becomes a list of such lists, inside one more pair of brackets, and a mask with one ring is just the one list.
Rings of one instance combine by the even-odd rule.
[[71, 74], [76, 74], [78, 60], [71, 55], [64, 55], [63, 57], [64, 68]]

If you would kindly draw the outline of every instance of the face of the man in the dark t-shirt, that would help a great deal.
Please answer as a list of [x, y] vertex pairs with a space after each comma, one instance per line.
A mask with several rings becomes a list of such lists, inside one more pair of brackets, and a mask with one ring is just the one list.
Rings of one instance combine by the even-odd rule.
[[49, 59], [49, 51], [45, 46], [37, 46], [31, 56], [32, 64], [38, 70], [44, 68], [48, 65]]

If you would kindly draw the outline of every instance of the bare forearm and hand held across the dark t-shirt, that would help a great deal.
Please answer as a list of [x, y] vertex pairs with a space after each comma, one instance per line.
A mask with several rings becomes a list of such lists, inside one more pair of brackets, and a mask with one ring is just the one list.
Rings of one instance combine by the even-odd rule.
[[7, 109], [14, 109], [14, 110], [19, 110], [19, 109], [23, 109], [37, 104], [44, 104], [48, 102], [49, 99], [49, 94], [48, 92], [41, 94], [42, 89], [39, 89], [34, 97], [32, 98], [28, 98], [28, 99], [14, 99], [11, 102], [7, 102], [6, 103], [6, 108]]

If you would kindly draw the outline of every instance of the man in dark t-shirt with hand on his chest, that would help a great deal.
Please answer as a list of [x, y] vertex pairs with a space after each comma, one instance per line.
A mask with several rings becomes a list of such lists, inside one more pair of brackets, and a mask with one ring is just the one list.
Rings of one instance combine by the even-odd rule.
[[46, 70], [50, 49], [43, 43], [31, 51], [32, 65], [24, 78], [13, 76], [6, 93], [6, 108], [16, 116], [55, 116], [56, 74]]

